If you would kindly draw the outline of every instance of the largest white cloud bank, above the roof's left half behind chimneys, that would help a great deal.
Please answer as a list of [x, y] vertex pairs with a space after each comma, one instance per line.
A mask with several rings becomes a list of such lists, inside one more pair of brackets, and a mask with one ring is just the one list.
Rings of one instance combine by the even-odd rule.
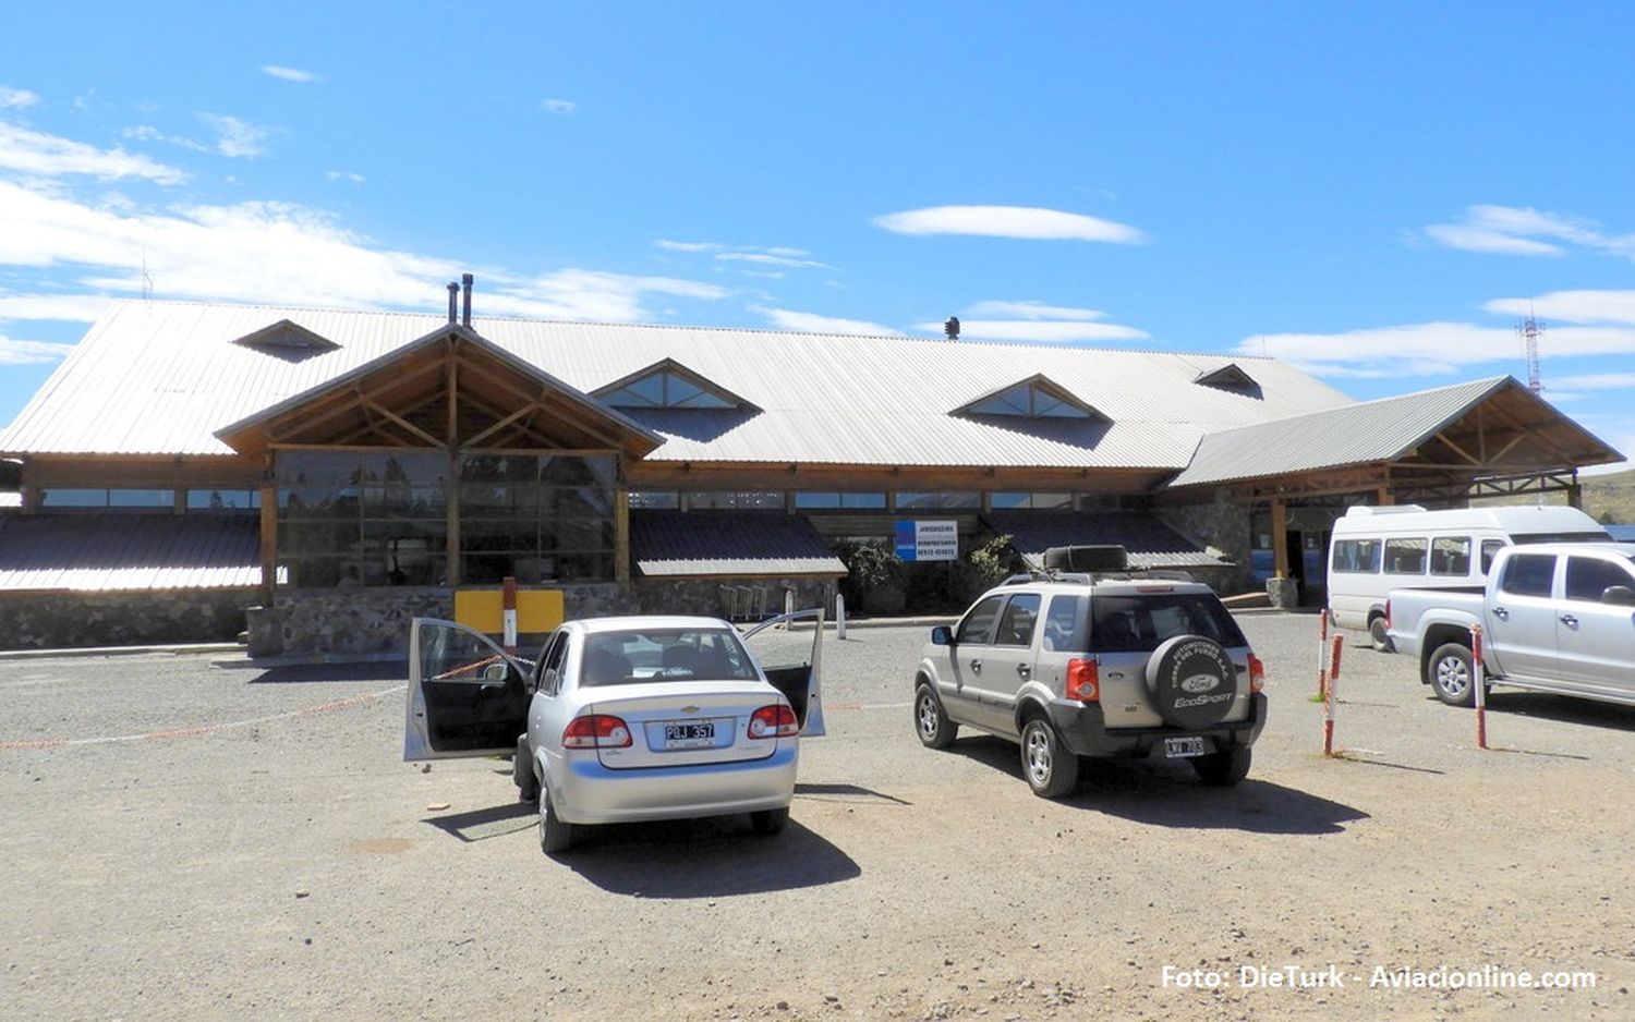
[[[74, 267], [75, 283], [142, 291], [142, 262], [160, 298], [338, 307], [441, 307], [455, 260], [378, 249], [334, 217], [286, 203], [131, 211], [0, 180], [0, 265]], [[562, 270], [522, 276], [477, 268], [479, 316], [643, 320], [649, 296], [719, 299], [714, 285]], [[18, 296], [13, 316], [29, 301]], [[60, 306], [67, 311], [69, 306]], [[21, 317], [21, 316], [18, 316]]]

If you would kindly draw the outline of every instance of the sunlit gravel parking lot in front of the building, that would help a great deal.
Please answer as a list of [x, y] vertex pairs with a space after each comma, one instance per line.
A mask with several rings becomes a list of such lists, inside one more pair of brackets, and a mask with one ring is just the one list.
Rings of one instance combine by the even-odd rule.
[[1635, 708], [1499, 692], [1483, 752], [1352, 636], [1324, 759], [1316, 618], [1241, 623], [1272, 711], [1238, 788], [1110, 764], [1033, 798], [1009, 744], [914, 739], [924, 628], [858, 628], [782, 837], [562, 860], [508, 764], [401, 762], [402, 666], [5, 661], [3, 1014], [1635, 1015]]

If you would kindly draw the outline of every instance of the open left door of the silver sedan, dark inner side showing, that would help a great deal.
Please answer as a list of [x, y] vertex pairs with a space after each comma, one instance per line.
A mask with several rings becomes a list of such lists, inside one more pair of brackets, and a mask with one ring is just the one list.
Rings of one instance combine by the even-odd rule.
[[481, 631], [415, 618], [404, 759], [510, 755], [528, 729], [528, 670]]

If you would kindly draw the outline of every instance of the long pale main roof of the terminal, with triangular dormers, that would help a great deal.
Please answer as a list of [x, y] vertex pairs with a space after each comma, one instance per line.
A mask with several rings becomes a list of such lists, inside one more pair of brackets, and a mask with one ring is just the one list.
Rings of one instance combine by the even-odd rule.
[[[281, 319], [340, 348], [289, 361], [232, 343]], [[405, 312], [118, 303], [0, 433], [0, 451], [229, 455], [216, 430], [443, 325]], [[474, 327], [582, 392], [674, 358], [760, 409], [718, 433], [628, 410], [665, 437], [647, 461], [1179, 469], [1208, 432], [1351, 402], [1241, 355], [482, 317]], [[1251, 366], [1261, 397], [1195, 383], [1233, 361]], [[1033, 374], [1112, 425], [1064, 433], [950, 414]]]

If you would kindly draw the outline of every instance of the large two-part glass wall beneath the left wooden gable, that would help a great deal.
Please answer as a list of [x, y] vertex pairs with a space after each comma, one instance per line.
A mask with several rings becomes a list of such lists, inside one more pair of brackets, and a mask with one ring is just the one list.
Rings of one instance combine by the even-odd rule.
[[[616, 459], [466, 455], [455, 466], [461, 584], [613, 577]], [[450, 579], [441, 451], [278, 455], [278, 564], [293, 585]]]

